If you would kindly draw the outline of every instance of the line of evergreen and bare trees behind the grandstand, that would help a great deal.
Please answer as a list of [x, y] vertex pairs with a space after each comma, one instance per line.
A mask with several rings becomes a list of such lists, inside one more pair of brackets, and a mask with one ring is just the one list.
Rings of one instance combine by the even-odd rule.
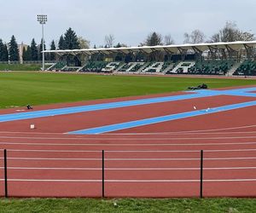
[[[196, 29], [190, 33], [186, 32], [183, 35], [183, 43], [216, 43], [216, 42], [234, 42], [234, 41], [252, 41], [255, 39], [252, 32], [243, 32], [237, 26], [234, 21], [227, 21], [223, 28], [218, 32], [214, 33], [212, 37], [208, 38], [200, 30]], [[115, 38], [113, 34], [105, 36], [105, 45], [98, 46], [99, 48], [120, 48], [127, 47], [125, 43], [115, 44]], [[172, 38], [171, 34], [162, 36], [158, 32], [151, 32], [148, 34], [146, 39], [140, 43], [138, 46], [155, 46], [155, 45], [171, 45], [175, 41]], [[90, 48], [90, 42], [83, 37], [78, 37], [76, 32], [72, 28], [68, 28], [67, 32], [64, 35], [61, 35], [59, 40], [56, 42], [52, 40], [50, 43], [50, 50], [55, 49], [88, 49]], [[96, 49], [96, 45], [94, 45]], [[45, 44], [44, 44], [45, 49]], [[34, 38], [32, 42], [27, 47], [22, 49], [22, 59], [23, 60], [42, 60], [43, 50], [43, 40], [41, 40], [38, 45]], [[55, 54], [46, 54], [45, 60], [56, 60]], [[18, 61], [19, 58], [19, 49], [16, 42], [15, 36], [11, 37], [9, 43], [3, 43], [3, 40], [0, 39], [0, 61]]]

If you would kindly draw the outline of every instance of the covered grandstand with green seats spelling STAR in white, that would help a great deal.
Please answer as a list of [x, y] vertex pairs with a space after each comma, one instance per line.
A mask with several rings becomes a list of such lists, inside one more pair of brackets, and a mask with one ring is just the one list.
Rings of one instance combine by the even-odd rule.
[[256, 76], [256, 41], [45, 50], [62, 72]]

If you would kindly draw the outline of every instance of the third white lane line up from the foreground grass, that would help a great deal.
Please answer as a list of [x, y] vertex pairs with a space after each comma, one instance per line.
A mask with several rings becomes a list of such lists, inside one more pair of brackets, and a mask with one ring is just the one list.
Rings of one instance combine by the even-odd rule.
[[[0, 158], [3, 159], [3, 158]], [[8, 158], [9, 160], [93, 160], [102, 161], [102, 158]], [[167, 160], [200, 160], [201, 158], [105, 158], [105, 161], [167, 161]], [[235, 157], [235, 158], [204, 158], [204, 160], [240, 160], [256, 159], [256, 157]]]

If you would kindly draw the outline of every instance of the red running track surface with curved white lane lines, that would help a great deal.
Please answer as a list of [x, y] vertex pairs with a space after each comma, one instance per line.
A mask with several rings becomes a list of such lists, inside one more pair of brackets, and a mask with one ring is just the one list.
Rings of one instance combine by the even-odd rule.
[[[243, 101], [254, 99], [220, 95], [197, 99], [196, 104], [205, 108]], [[62, 134], [95, 125], [186, 112], [194, 105], [195, 100], [173, 101], [3, 123], [0, 149], [8, 150], [9, 196], [101, 197], [105, 150], [105, 196], [198, 197], [200, 150], [204, 150], [205, 197], [255, 197], [255, 107], [104, 135]], [[38, 128], [28, 130], [31, 123]], [[1, 151], [0, 157], [3, 177]], [[2, 196], [3, 183], [2, 178]]]

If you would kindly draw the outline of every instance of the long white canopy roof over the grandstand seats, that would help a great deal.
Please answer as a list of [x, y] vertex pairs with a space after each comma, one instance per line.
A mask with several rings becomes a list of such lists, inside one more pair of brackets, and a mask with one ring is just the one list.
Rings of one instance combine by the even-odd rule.
[[113, 54], [113, 53], [152, 53], [155, 51], [162, 51], [169, 54], [184, 54], [190, 51], [202, 53], [209, 49], [247, 49], [256, 47], [256, 41], [250, 42], [230, 42], [230, 43], [195, 43], [195, 44], [180, 44], [180, 45], [166, 45], [166, 46], [143, 46], [143, 47], [121, 47], [121, 48], [100, 48], [100, 49], [57, 49], [57, 50], [44, 50], [44, 53], [55, 53], [57, 55], [93, 55], [93, 54]]

